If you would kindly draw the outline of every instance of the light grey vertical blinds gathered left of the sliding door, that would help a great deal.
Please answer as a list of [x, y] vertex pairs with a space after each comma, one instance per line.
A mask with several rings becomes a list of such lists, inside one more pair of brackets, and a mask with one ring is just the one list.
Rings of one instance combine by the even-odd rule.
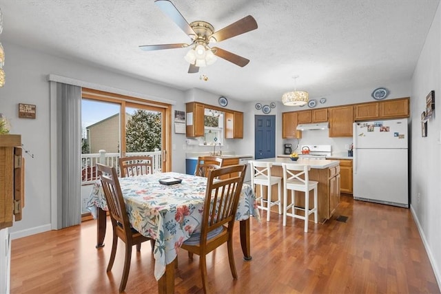
[[57, 229], [81, 223], [81, 87], [57, 83]]

